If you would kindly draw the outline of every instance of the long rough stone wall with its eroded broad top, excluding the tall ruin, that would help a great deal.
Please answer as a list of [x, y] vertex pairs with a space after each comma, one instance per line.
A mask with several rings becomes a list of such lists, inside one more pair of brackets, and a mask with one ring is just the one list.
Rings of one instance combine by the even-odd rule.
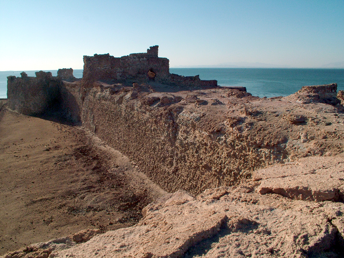
[[80, 117], [170, 192], [199, 194], [269, 165], [342, 152], [340, 107], [260, 99], [227, 88], [163, 87], [98, 83], [85, 92]]

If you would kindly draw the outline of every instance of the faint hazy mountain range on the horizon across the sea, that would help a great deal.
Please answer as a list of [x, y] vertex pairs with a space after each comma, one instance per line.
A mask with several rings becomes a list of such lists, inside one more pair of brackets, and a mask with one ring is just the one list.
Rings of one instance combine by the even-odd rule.
[[[192, 66], [175, 66], [171, 68], [300, 68], [287, 65], [273, 65], [265, 63], [249, 63], [249, 62], [232, 62], [222, 63], [218, 65], [192, 65]], [[344, 68], [344, 62], [330, 63], [320, 67], [312, 68]]]

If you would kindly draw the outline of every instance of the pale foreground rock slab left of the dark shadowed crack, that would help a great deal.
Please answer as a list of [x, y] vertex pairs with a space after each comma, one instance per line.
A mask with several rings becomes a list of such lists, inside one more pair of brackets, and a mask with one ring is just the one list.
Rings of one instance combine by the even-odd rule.
[[[170, 194], [151, 204], [138, 225], [96, 236], [53, 257], [181, 257], [190, 246], [218, 234], [226, 222], [223, 212], [202, 209], [201, 202], [192, 200], [184, 192]], [[79, 252], [79, 247], [84, 251]]]

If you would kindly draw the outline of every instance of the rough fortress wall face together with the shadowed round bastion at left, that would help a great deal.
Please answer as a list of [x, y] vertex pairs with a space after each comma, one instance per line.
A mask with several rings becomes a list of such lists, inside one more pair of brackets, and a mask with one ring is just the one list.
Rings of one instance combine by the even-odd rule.
[[[240, 133], [234, 127], [241, 126], [245, 120], [242, 117], [214, 120], [214, 114], [221, 113], [216, 110], [220, 105], [213, 106], [212, 113], [203, 112], [204, 122], [200, 123], [197, 105], [185, 102], [188, 97], [147, 97], [151, 96], [143, 90], [149, 89], [147, 85], [103, 86], [94, 82], [91, 86], [85, 88], [82, 81], [57, 80], [44, 72], [30, 78], [23, 73], [22, 77], [9, 77], [9, 107], [34, 114], [49, 111], [52, 100], [59, 100], [64, 116], [82, 122], [171, 192], [184, 189], [198, 194], [207, 188], [237, 184], [249, 178], [253, 170], [288, 158], [288, 151], [282, 147], [288, 140], [285, 135], [267, 133], [271, 125], [253, 126]], [[246, 93], [228, 88], [216, 91], [238, 98]], [[248, 117], [253, 112], [243, 111]], [[289, 126], [287, 119], [283, 123]]]

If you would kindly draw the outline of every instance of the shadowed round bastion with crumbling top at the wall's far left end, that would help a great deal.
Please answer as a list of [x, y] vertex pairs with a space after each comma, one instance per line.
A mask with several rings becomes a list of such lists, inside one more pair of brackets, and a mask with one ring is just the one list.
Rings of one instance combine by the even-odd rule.
[[36, 72], [36, 77], [29, 77], [25, 72], [21, 73], [21, 77], [8, 76], [6, 102], [10, 109], [25, 115], [59, 112], [69, 121], [77, 123], [80, 121], [80, 103], [74, 96], [82, 95], [81, 89], [66, 89], [76, 80], [72, 68], [58, 69], [57, 76], [44, 71]]

